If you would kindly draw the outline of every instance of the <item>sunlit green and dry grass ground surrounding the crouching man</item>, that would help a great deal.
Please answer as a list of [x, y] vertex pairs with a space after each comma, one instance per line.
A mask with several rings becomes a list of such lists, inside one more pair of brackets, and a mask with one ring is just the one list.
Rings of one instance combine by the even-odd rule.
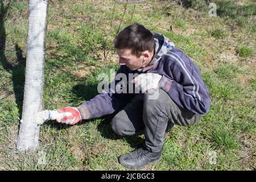
[[[113, 1], [48, 2], [44, 107], [79, 106], [96, 96], [98, 75], [118, 69], [110, 45], [124, 7], [117, 5], [109, 30]], [[175, 126], [167, 133], [162, 160], [143, 169], [255, 170], [255, 2], [211, 2], [217, 5], [217, 17], [208, 16], [205, 1], [188, 1], [172, 31], [180, 7], [177, 1], [147, 1], [135, 7], [132, 22], [166, 35], [191, 57], [212, 99], [209, 112], [198, 123]], [[115, 135], [110, 127], [113, 114], [72, 127], [46, 122], [40, 128], [37, 151], [16, 151], [28, 1], [5, 1], [1, 7], [6, 19], [0, 22], [5, 45], [0, 51], [0, 169], [127, 169], [118, 163], [118, 156], [142, 146], [144, 137]], [[127, 6], [121, 29], [129, 24], [133, 8]], [[104, 47], [110, 49], [106, 61]], [[226, 57], [221, 56], [224, 53]]]

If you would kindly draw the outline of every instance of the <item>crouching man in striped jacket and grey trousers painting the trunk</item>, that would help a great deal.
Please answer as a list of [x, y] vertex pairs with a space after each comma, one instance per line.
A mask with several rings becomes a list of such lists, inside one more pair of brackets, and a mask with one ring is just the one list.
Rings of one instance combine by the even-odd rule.
[[79, 107], [58, 110], [72, 115], [57, 122], [75, 125], [81, 119], [119, 111], [111, 122], [113, 131], [121, 136], [145, 137], [142, 148], [119, 157], [123, 166], [138, 169], [158, 162], [168, 127], [193, 125], [207, 113], [210, 95], [199, 68], [164, 35], [135, 23], [118, 34], [114, 46], [120, 64], [117, 75], [129, 78], [129, 74], [137, 74], [132, 84], [115, 79], [115, 88], [135, 91], [129, 89], [134, 85], [140, 92], [118, 93], [109, 87], [108, 92]]

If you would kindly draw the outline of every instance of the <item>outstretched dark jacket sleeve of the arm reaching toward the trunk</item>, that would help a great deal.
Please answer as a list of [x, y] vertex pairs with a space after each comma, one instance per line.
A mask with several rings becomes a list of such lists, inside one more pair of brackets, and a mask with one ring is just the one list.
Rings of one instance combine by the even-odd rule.
[[[123, 73], [123, 67], [118, 69], [117, 74], [118, 73]], [[113, 81], [115, 88], [122, 89], [123, 85], [128, 85], [127, 82], [122, 85], [122, 79], [117, 80], [116, 77]], [[110, 86], [109, 84], [109, 88], [106, 92], [98, 94], [92, 98], [92, 100], [86, 101], [77, 107], [81, 113], [82, 119], [97, 118], [106, 114], [112, 114], [133, 99], [133, 93], [118, 93]]]

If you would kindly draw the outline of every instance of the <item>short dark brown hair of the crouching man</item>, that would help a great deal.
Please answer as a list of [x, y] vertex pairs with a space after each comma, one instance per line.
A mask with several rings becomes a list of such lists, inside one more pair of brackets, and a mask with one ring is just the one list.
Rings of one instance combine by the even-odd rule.
[[137, 57], [143, 51], [152, 52], [155, 47], [153, 34], [141, 24], [131, 24], [123, 29], [114, 39], [116, 49], [131, 49], [131, 53]]

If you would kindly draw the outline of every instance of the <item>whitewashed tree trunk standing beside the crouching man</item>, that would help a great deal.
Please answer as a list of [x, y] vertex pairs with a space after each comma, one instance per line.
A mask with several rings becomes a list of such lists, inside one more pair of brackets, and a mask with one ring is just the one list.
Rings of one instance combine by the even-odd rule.
[[17, 139], [18, 150], [38, 147], [40, 126], [35, 114], [43, 109], [44, 41], [47, 0], [30, 0], [28, 16], [27, 60], [22, 119]]

